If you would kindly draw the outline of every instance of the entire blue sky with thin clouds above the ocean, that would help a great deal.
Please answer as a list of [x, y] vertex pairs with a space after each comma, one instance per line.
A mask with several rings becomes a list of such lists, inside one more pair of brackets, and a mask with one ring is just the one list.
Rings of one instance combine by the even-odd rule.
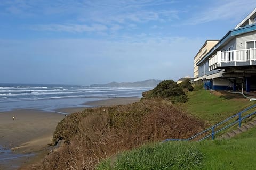
[[0, 0], [0, 83], [94, 84], [193, 75], [254, 1]]

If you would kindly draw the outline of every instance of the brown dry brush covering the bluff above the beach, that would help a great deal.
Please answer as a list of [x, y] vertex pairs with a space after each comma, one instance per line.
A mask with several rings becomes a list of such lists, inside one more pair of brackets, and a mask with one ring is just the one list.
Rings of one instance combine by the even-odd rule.
[[94, 169], [117, 152], [167, 138], [188, 138], [203, 129], [202, 121], [159, 99], [85, 109], [58, 124], [54, 140], [66, 144], [37, 169]]

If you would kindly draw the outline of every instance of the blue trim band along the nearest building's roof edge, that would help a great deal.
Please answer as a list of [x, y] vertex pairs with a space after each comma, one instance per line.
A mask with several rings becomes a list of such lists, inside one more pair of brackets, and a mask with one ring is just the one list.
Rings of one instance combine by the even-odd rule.
[[203, 63], [210, 55], [212, 55], [212, 53], [217, 50], [223, 43], [225, 43], [229, 38], [233, 37], [233, 36], [237, 36], [237, 35], [241, 35], [243, 33], [248, 33], [251, 31], [255, 31], [256, 30], [256, 24], [252, 24], [252, 25], [247, 25], [245, 27], [242, 28], [237, 28], [237, 29], [233, 29], [228, 31], [228, 33], [226, 33], [226, 35], [224, 37], [222, 37], [219, 42], [202, 58], [202, 60], [200, 60], [198, 63], [196, 63], [196, 65], [200, 65], [201, 63]]

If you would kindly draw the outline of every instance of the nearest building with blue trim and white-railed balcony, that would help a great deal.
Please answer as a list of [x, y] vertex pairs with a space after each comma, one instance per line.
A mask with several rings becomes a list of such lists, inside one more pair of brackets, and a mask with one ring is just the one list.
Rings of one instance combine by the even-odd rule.
[[256, 8], [207, 52], [198, 79], [213, 90], [256, 90]]

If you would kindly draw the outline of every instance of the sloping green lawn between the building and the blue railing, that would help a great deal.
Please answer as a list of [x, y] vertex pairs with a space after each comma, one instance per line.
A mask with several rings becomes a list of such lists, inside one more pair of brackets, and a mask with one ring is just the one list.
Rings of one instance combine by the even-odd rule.
[[[231, 95], [231, 94], [230, 94]], [[217, 96], [209, 90], [199, 90], [188, 93], [189, 101], [181, 106], [190, 114], [216, 124], [255, 104], [249, 100], [232, 99], [230, 96]]]

